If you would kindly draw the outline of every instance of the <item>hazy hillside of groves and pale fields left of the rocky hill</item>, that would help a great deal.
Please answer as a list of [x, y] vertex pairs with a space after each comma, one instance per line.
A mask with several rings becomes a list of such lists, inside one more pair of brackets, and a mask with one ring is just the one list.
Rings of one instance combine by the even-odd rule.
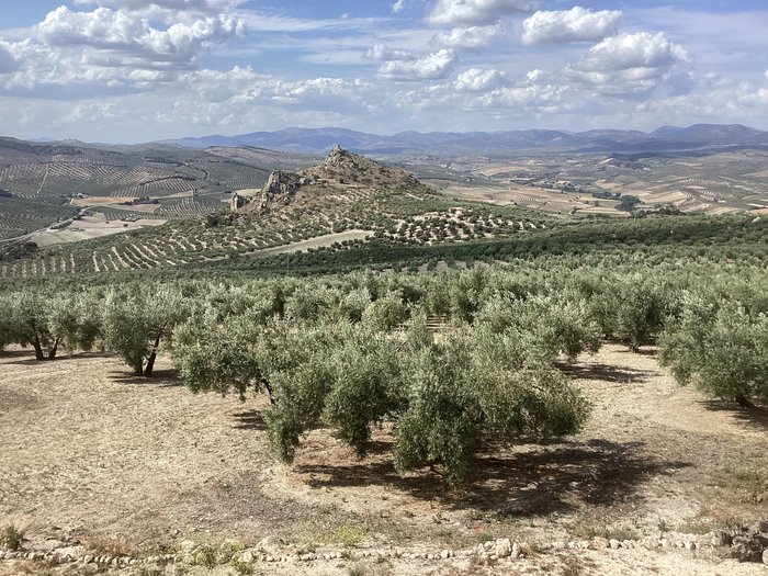
[[105, 147], [0, 138], [0, 240], [100, 213], [102, 219], [179, 219], [213, 212], [234, 190], [309, 159], [251, 148]]

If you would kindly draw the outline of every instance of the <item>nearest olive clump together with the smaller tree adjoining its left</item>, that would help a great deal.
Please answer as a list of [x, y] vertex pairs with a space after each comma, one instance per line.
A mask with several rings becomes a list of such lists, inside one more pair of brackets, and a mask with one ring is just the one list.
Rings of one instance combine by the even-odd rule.
[[517, 329], [464, 329], [436, 340], [425, 316], [404, 332], [363, 321], [297, 329], [259, 314], [215, 316], [177, 328], [174, 362], [195, 392], [267, 391], [270, 442], [285, 462], [318, 426], [334, 428], [362, 456], [372, 429], [388, 421], [399, 471], [441, 464], [445, 481], [459, 484], [488, 443], [572, 433], [588, 414], [546, 360], [573, 346], [572, 334], [562, 341], [553, 335], [542, 350]]

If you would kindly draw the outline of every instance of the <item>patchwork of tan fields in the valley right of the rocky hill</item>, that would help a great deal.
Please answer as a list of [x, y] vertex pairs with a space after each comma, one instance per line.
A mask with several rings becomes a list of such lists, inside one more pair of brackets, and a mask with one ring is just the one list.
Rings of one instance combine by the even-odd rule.
[[453, 196], [551, 213], [621, 216], [594, 192], [633, 195], [639, 208], [673, 204], [682, 212], [723, 214], [768, 207], [768, 153], [583, 155], [465, 158], [409, 162], [417, 176]]

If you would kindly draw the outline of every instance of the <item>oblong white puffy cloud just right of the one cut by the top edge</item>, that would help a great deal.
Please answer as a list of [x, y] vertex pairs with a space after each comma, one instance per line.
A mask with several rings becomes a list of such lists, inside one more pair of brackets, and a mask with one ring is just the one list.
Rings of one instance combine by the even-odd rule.
[[563, 11], [539, 11], [522, 23], [522, 43], [597, 42], [615, 35], [620, 21], [621, 10], [594, 12], [574, 7]]

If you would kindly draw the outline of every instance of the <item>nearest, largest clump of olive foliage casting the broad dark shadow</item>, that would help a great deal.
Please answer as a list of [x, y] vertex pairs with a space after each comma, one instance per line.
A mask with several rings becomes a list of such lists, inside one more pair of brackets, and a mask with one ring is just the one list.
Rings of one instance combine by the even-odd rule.
[[[362, 456], [372, 427], [391, 421], [398, 471], [441, 466], [458, 485], [489, 442], [562, 436], [585, 421], [587, 403], [554, 368], [521, 365], [502, 339], [481, 346], [460, 332], [434, 342], [423, 328], [420, 317], [404, 339], [354, 326], [284, 334], [287, 361], [261, 366], [274, 387], [266, 419], [279, 458], [291, 462], [318, 425]], [[489, 362], [494, 354], [504, 362]]]

